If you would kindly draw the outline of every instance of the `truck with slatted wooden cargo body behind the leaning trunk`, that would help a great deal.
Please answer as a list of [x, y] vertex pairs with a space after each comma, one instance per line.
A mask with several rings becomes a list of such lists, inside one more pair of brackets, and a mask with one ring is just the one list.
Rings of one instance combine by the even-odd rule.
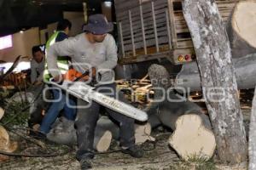
[[[239, 0], [216, 0], [227, 22]], [[182, 0], [114, 0], [119, 65], [166, 58], [173, 65], [195, 59]]]

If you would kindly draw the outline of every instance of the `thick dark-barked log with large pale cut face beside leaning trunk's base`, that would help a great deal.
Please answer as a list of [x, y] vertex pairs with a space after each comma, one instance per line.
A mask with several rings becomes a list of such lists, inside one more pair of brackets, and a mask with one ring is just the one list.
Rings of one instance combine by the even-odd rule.
[[[181, 99], [173, 92], [169, 96], [173, 100]], [[212, 157], [216, 141], [209, 117], [200, 106], [189, 100], [170, 102], [166, 99], [159, 105], [159, 118], [163, 125], [172, 128], [169, 144], [183, 160]]]

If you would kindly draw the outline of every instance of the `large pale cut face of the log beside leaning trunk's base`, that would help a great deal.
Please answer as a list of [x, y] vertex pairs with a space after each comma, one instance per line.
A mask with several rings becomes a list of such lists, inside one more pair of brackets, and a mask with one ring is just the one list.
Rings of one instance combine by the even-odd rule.
[[201, 122], [201, 116], [183, 115], [177, 118], [176, 130], [172, 133], [169, 143], [184, 160], [200, 157], [212, 157], [216, 143], [215, 137]]

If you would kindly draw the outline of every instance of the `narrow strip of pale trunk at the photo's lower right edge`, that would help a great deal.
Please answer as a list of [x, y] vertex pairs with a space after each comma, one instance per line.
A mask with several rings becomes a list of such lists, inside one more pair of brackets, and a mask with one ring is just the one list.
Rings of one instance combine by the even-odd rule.
[[249, 131], [249, 170], [256, 169], [256, 88], [253, 97], [253, 108]]

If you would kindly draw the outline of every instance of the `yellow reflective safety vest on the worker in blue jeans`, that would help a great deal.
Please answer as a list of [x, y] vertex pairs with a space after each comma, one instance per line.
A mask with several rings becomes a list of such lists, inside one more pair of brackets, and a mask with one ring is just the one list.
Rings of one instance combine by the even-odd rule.
[[[49, 82], [49, 78], [52, 76], [49, 73], [48, 66], [47, 66], [47, 49], [49, 49], [49, 46], [55, 43], [56, 37], [59, 35], [60, 31], [55, 31], [55, 33], [49, 37], [49, 40], [46, 42], [45, 45], [45, 64], [44, 64], [44, 82]], [[59, 70], [61, 71], [61, 74], [65, 74], [68, 71], [68, 58], [65, 57], [58, 57], [57, 58], [57, 65]]]

